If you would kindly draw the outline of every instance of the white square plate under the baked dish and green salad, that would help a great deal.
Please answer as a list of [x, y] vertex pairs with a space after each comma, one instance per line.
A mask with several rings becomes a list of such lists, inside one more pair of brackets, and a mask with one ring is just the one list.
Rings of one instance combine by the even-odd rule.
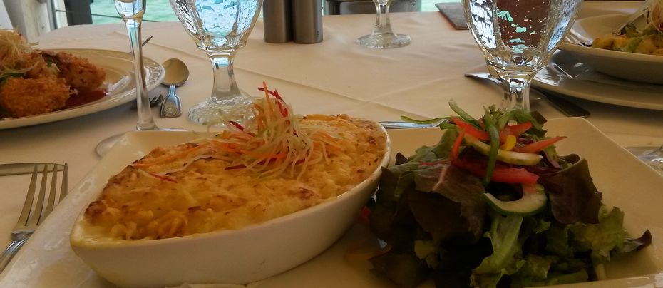
[[[629, 235], [652, 232], [654, 243], [607, 265], [608, 282], [574, 284], [573, 287], [656, 287], [663, 281], [663, 177], [634, 158], [617, 143], [582, 118], [550, 120], [548, 135], [568, 138], [557, 145], [561, 154], [576, 153], [589, 161], [595, 185], [606, 205], [625, 211]], [[437, 143], [441, 130], [389, 130], [392, 151], [406, 155], [421, 145]], [[175, 145], [200, 135], [186, 132], [128, 133], [86, 178], [69, 192], [21, 252], [0, 275], [0, 287], [112, 287], [78, 259], [69, 246], [69, 232], [78, 213], [106, 180], [133, 160], [159, 145]], [[374, 276], [368, 262], [348, 262], [349, 247], [375, 238], [357, 224], [327, 251], [288, 272], [250, 284], [250, 287], [389, 287]], [[192, 247], [192, 249], [195, 249]], [[423, 286], [428, 286], [426, 283]], [[232, 287], [234, 285], [220, 287]]]

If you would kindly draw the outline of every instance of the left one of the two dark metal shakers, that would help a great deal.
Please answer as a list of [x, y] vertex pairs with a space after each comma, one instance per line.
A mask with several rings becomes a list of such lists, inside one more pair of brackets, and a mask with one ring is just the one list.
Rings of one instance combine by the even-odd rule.
[[265, 42], [292, 41], [292, 0], [264, 0], [262, 21]]

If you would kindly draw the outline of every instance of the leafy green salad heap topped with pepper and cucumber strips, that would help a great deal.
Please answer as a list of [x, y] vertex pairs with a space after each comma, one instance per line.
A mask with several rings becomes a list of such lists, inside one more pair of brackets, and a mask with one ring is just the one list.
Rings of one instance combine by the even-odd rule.
[[557, 155], [565, 137], [547, 137], [541, 115], [450, 106], [437, 145], [383, 169], [367, 205], [386, 242], [374, 272], [400, 287], [567, 284], [605, 279], [614, 254], [652, 242], [627, 237], [624, 213], [602, 204], [585, 159]]

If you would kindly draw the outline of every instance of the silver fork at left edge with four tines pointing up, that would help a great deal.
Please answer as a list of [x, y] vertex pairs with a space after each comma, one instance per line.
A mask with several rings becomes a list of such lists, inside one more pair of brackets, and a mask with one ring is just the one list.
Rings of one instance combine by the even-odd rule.
[[[51, 211], [53, 211], [53, 207], [61, 202], [67, 195], [68, 165], [65, 163], [63, 168], [59, 197], [56, 197], [58, 187], [58, 165], [55, 163], [55, 165], [53, 165], [53, 170], [51, 170], [50, 173], [48, 173], [47, 168], [48, 165], [43, 165], [43, 170], [39, 173], [41, 174], [41, 184], [39, 185], [39, 195], [36, 203], [34, 203], [35, 207], [33, 210], [34, 192], [36, 190], [38, 178], [37, 165], [34, 166], [32, 179], [30, 180], [30, 186], [28, 188], [28, 195], [26, 195], [26, 201], [23, 205], [21, 216], [19, 216], [19, 221], [16, 222], [14, 230], [11, 231], [11, 244], [9, 244], [4, 252], [2, 252], [2, 255], [0, 255], [0, 272], [2, 272], [7, 264], [9, 264], [11, 258], [13, 258], [14, 254], [21, 249], [34, 230], [36, 230], [37, 226], [48, 217], [48, 214], [50, 214]], [[48, 195], [46, 195], [48, 174], [51, 175], [51, 185]], [[46, 202], [46, 200], [48, 203], [46, 204], [46, 209], [44, 209], [43, 203]]]

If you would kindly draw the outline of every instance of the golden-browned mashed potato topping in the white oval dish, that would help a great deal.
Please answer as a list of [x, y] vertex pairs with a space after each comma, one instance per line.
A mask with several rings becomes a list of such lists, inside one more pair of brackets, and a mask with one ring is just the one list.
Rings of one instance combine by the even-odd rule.
[[[88, 224], [101, 228], [100, 237], [122, 240], [237, 230], [341, 195], [379, 168], [387, 141], [377, 123], [292, 115], [280, 97], [266, 99], [257, 107], [281, 112], [275, 121], [257, 115], [263, 128], [235, 123], [214, 138], [156, 148], [124, 168], [86, 209]], [[274, 123], [286, 132], [274, 133]]]

